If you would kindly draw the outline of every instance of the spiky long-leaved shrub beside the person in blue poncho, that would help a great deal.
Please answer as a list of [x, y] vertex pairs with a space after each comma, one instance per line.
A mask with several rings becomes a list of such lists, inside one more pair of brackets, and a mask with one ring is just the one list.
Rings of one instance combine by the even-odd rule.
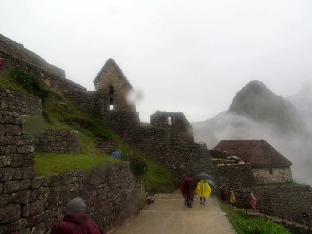
[[137, 149], [122, 149], [120, 159], [130, 162], [131, 172], [138, 176], [144, 174], [149, 169], [149, 161]]

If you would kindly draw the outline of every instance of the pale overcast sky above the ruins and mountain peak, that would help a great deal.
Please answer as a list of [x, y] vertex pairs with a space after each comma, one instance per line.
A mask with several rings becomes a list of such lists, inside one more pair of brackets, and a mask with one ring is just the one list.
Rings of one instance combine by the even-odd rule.
[[312, 80], [312, 1], [15, 0], [0, 16], [1, 34], [87, 90], [114, 58], [145, 122], [156, 110], [211, 118], [250, 80], [283, 96]]

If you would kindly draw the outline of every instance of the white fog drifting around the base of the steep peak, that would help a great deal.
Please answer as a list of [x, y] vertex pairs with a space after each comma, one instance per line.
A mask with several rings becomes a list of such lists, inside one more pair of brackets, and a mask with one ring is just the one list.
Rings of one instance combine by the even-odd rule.
[[[195, 140], [214, 148], [222, 139], [265, 139], [293, 163], [291, 170], [296, 182], [312, 184], [311, 94], [311, 86], [306, 85], [301, 92], [287, 98], [295, 105], [298, 116], [302, 117], [304, 131], [281, 132], [274, 124], [256, 122], [226, 110], [204, 122], [193, 123]], [[211, 134], [200, 134], [199, 129], [203, 128], [209, 129], [217, 140]]]

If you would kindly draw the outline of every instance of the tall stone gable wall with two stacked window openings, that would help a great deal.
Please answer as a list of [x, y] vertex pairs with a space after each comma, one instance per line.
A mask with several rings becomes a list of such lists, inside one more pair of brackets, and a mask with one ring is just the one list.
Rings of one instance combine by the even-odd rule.
[[[113, 94], [110, 94], [110, 85], [113, 86]], [[103, 92], [105, 110], [110, 110], [110, 99], [113, 99], [114, 110], [135, 112], [135, 104], [127, 101], [131, 89], [112, 62], [107, 64], [101, 76], [96, 80], [96, 90]]]

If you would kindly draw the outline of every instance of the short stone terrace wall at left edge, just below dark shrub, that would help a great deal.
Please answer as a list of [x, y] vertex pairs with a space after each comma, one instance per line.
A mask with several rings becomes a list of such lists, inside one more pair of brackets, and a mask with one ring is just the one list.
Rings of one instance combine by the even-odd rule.
[[0, 108], [21, 115], [42, 115], [40, 98], [31, 97], [17, 91], [0, 88]]

